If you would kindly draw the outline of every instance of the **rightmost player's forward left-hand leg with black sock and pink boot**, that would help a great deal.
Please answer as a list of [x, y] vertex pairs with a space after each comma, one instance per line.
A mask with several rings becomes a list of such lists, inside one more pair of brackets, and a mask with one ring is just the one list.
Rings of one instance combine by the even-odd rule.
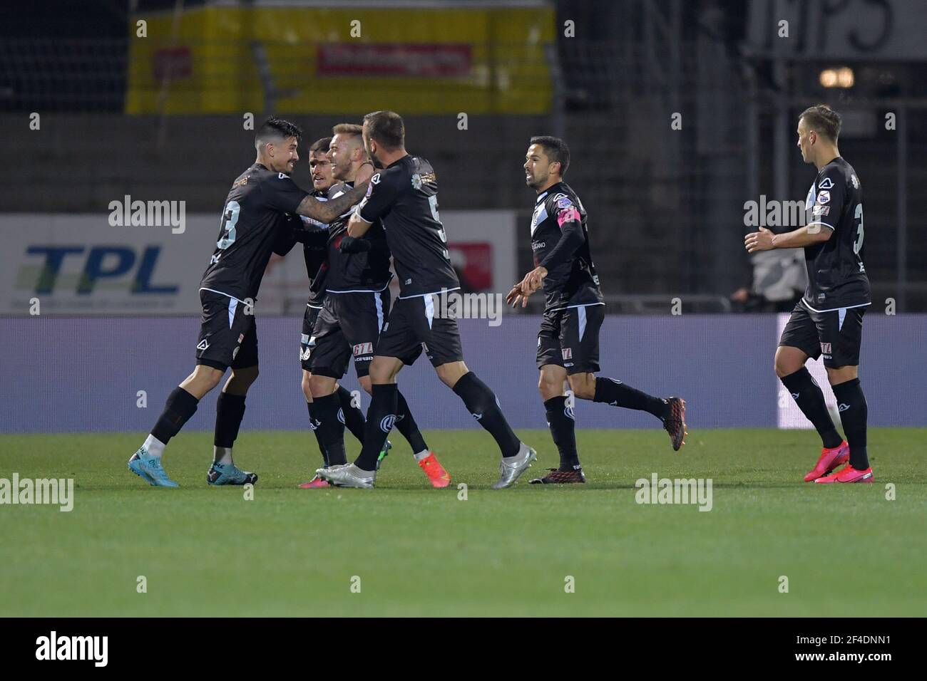
[[805, 474], [805, 482], [810, 483], [842, 466], [849, 460], [850, 453], [844, 438], [833, 425], [824, 393], [805, 366], [807, 359], [806, 353], [797, 347], [780, 346], [776, 349], [776, 375], [820, 435], [820, 457], [815, 467]]

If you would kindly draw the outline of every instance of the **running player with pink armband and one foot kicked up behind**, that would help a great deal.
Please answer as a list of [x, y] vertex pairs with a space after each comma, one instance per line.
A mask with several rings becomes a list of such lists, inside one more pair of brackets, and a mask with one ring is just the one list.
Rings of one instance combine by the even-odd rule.
[[663, 422], [673, 449], [685, 444], [686, 403], [679, 397], [653, 397], [599, 372], [599, 329], [604, 302], [590, 253], [586, 209], [564, 182], [570, 163], [566, 143], [547, 135], [532, 137], [525, 156], [525, 182], [538, 197], [531, 216], [535, 269], [515, 284], [506, 299], [522, 307], [544, 290], [544, 318], [538, 334], [538, 389], [547, 411], [560, 467], [532, 484], [585, 483], [579, 463], [573, 408], [566, 405], [564, 382], [580, 399], [612, 407], [644, 410]]

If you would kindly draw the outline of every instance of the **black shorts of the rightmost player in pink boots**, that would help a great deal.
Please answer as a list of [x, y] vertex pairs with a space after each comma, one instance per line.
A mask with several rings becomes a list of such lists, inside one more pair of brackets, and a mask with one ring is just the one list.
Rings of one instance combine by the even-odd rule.
[[824, 366], [856, 367], [863, 338], [865, 307], [812, 312], [799, 302], [782, 330], [780, 346], [797, 347], [811, 359], [824, 356]]

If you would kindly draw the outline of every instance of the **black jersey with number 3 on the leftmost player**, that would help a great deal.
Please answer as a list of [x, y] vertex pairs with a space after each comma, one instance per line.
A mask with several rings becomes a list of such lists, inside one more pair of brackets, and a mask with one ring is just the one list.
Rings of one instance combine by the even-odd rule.
[[285, 172], [260, 163], [232, 183], [219, 223], [219, 240], [201, 288], [239, 300], [256, 299], [260, 280], [279, 233], [291, 229], [287, 214], [295, 214], [308, 196]]

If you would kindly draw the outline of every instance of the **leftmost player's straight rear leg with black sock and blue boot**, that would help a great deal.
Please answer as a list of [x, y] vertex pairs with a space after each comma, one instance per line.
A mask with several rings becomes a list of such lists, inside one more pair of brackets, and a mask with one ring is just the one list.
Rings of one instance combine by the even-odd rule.
[[258, 377], [258, 367], [233, 369], [232, 375], [222, 388], [216, 400], [216, 429], [212, 448], [212, 465], [206, 474], [206, 481], [212, 486], [254, 485], [257, 473], [242, 471], [235, 466], [232, 448], [245, 416], [245, 397], [248, 387]]

